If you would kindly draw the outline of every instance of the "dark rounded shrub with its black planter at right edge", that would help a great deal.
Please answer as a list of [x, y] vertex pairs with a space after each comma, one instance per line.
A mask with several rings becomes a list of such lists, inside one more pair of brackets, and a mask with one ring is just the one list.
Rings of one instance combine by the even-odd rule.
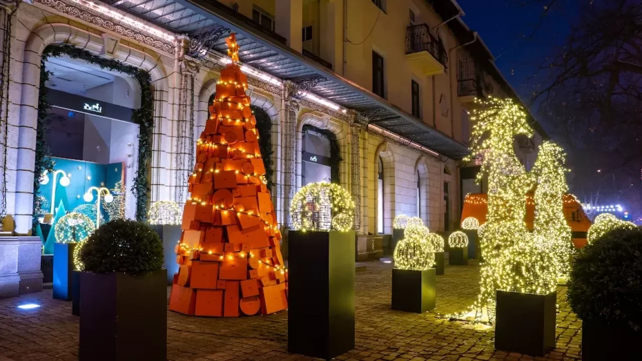
[[614, 229], [573, 263], [568, 301], [582, 319], [582, 359], [639, 360], [642, 343], [642, 229]]

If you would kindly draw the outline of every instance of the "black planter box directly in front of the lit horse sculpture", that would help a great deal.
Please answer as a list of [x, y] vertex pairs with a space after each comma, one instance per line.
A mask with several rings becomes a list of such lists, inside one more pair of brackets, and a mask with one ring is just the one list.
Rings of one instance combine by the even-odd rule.
[[557, 292], [536, 295], [498, 290], [495, 349], [534, 357], [549, 353], [555, 348], [556, 302]]

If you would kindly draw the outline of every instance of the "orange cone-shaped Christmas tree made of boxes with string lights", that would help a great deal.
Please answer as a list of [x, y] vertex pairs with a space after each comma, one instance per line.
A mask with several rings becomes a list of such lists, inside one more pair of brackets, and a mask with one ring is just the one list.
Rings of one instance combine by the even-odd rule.
[[245, 95], [247, 77], [236, 64], [236, 37], [225, 42], [232, 62], [221, 71], [211, 117], [196, 143], [169, 309], [196, 316], [265, 315], [288, 308], [288, 273]]

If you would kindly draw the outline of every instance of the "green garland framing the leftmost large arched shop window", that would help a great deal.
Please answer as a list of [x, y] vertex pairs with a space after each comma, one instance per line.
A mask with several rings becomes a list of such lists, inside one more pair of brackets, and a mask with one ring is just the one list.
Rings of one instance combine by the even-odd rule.
[[[139, 125], [138, 138], [138, 170], [134, 178], [132, 191], [136, 195], [136, 219], [144, 221], [147, 218], [147, 209], [150, 198], [150, 167], [152, 163], [152, 131], [153, 121], [153, 94], [152, 94], [152, 76], [147, 71], [138, 67], [130, 66], [119, 62], [118, 60], [101, 58], [93, 55], [85, 49], [76, 48], [70, 44], [52, 44], [42, 51], [42, 60], [40, 62], [40, 92], [38, 96], [38, 125], [36, 130], [36, 163], [34, 168], [33, 193], [37, 193], [40, 186], [39, 175], [44, 170], [53, 168], [53, 164], [46, 161], [46, 157], [51, 155], [49, 145], [45, 137], [46, 121], [48, 119], [48, 109], [51, 106], [47, 98], [47, 88], [45, 86], [49, 79], [49, 72], [45, 69], [45, 62], [49, 57], [59, 57], [67, 55], [73, 59], [81, 59], [92, 64], [97, 64], [101, 69], [118, 71], [125, 73], [137, 80], [141, 87], [141, 107], [134, 110], [132, 121]], [[39, 205], [36, 204], [34, 197], [34, 214], [39, 211]], [[37, 225], [37, 220], [34, 220]]]

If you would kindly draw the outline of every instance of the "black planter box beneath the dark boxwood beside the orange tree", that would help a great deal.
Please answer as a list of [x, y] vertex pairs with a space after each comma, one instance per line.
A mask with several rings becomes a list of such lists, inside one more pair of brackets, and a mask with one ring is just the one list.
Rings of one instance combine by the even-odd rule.
[[167, 359], [167, 270], [80, 275], [81, 361]]

